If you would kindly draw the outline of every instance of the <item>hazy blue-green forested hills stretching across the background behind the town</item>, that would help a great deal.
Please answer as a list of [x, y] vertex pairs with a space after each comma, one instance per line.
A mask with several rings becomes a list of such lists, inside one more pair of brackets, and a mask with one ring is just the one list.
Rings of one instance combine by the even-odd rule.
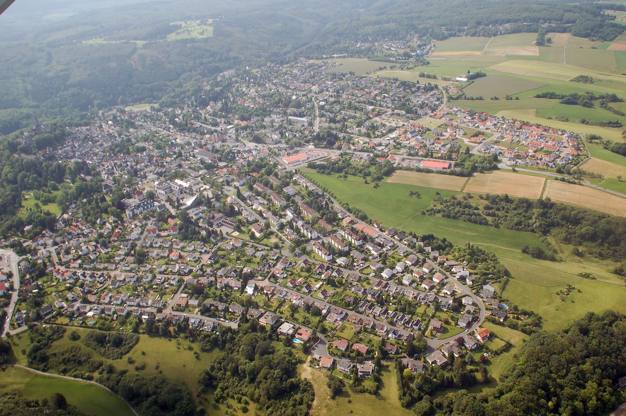
[[[215, 19], [210, 38], [160, 40], [176, 29], [172, 21], [207, 18]], [[422, 0], [419, 7], [408, 0], [187, 1], [92, 11], [16, 32], [0, 44], [0, 134], [37, 117], [81, 125], [111, 106], [171, 105], [227, 69], [351, 48], [361, 54], [359, 41], [496, 36], [537, 32], [544, 23], [606, 41], [623, 31], [597, 4], [522, 0]], [[120, 42], [83, 43], [107, 36]]]

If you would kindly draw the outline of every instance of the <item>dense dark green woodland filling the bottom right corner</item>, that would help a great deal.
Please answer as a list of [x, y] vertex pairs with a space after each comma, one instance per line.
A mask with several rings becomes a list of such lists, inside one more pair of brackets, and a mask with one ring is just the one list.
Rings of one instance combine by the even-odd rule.
[[587, 313], [558, 333], [532, 335], [503, 372], [498, 387], [425, 397], [419, 416], [598, 415], [623, 401], [617, 379], [626, 375], [626, 317]]

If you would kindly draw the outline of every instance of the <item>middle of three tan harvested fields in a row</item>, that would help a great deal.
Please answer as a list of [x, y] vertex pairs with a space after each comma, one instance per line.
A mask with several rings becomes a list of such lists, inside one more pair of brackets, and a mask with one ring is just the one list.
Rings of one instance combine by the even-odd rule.
[[545, 178], [540, 176], [521, 175], [495, 171], [493, 173], [476, 173], [465, 187], [470, 193], [506, 193], [509, 196], [525, 196], [536, 200], [541, 196]]

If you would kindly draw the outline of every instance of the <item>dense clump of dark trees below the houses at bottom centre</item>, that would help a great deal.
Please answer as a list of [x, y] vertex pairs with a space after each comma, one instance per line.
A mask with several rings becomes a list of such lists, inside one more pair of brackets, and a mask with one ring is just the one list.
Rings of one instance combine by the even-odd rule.
[[[246, 321], [245, 315], [242, 320]], [[272, 345], [277, 338], [275, 330], [266, 332], [256, 320], [240, 322], [236, 332], [220, 328], [219, 333], [198, 335], [203, 350], [217, 347], [220, 351], [198, 376], [201, 389], [215, 388], [217, 403], [227, 397], [241, 402], [245, 396], [267, 416], [307, 415], [313, 387], [299, 377], [292, 348]]]

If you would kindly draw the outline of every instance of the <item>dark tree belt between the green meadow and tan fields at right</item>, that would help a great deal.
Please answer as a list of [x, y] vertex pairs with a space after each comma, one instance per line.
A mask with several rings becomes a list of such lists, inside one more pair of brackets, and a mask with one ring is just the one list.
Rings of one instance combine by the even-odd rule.
[[[464, 196], [437, 197], [436, 206], [429, 208], [429, 215], [440, 214], [481, 225], [491, 225], [516, 231], [538, 234], [545, 238], [553, 235], [565, 244], [581, 246], [592, 256], [622, 261], [626, 258], [626, 218], [611, 216], [598, 211], [546, 200], [531, 201], [528, 198], [510, 198], [508, 195], [480, 196], [482, 206], [471, 203]], [[530, 251], [529, 251], [530, 253]], [[537, 253], [536, 256], [541, 256]]]

